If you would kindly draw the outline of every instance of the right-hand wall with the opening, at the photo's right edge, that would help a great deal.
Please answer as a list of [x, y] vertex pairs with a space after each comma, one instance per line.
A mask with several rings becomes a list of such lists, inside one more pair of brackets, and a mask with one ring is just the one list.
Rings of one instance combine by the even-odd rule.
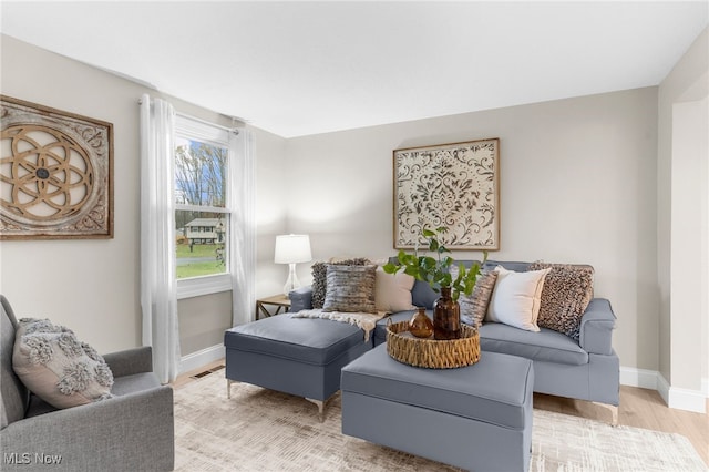
[[[698, 391], [707, 372], [708, 235], [700, 202], [709, 198], [706, 123], [709, 33], [705, 31], [662, 81], [658, 93], [659, 372], [672, 387]], [[703, 102], [702, 102], [703, 101]], [[698, 137], [692, 137], [698, 136]], [[702, 195], [703, 194], [703, 195]], [[688, 233], [689, 230], [689, 233]], [[703, 247], [703, 249], [702, 249]], [[702, 275], [703, 274], [703, 275]], [[702, 301], [703, 300], [703, 301]], [[702, 307], [703, 310], [702, 310]], [[703, 312], [702, 312], [703, 311]], [[701, 399], [697, 399], [701, 403]], [[671, 406], [671, 402], [670, 402]]]

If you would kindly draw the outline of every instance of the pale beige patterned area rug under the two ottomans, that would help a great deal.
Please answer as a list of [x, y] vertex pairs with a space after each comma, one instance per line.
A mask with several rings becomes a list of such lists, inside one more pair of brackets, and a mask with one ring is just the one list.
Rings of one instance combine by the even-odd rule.
[[[340, 396], [325, 421], [305, 399], [247, 383], [224, 370], [175, 390], [177, 471], [458, 471], [340, 431]], [[372, 427], [376, 428], [376, 424]], [[474, 439], [471, 439], [473, 441]], [[436, 435], [431, 434], [431, 441]], [[689, 440], [534, 410], [531, 472], [707, 471]]]

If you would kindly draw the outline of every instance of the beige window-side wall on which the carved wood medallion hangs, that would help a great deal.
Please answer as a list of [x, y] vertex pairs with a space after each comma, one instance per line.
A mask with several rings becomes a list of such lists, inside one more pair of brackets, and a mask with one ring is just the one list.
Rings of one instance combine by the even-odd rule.
[[[2, 242], [0, 291], [18, 316], [49, 317], [66, 325], [101, 352], [138, 346], [138, 99], [145, 92], [162, 94], [12, 38], [1, 39], [2, 94], [113, 123], [115, 235], [99, 240]], [[230, 124], [223, 115], [168, 99], [182, 113]], [[263, 234], [269, 235], [282, 232], [285, 225], [279, 164], [285, 140], [259, 130], [254, 133], [259, 145], [257, 178], [264, 177], [257, 185], [259, 234], [264, 228]], [[267, 276], [270, 271], [270, 267], [264, 270]], [[266, 283], [257, 295], [280, 289], [279, 284]], [[230, 293], [181, 300], [178, 307], [183, 355], [220, 343], [224, 329], [232, 326]]]

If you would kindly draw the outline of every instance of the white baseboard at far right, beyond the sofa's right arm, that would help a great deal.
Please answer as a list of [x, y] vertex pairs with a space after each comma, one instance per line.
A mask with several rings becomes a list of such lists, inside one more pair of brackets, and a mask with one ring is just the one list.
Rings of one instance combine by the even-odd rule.
[[707, 412], [707, 398], [709, 398], [707, 380], [702, 379], [701, 390], [681, 389], [670, 386], [665, 377], [655, 370], [620, 368], [620, 384], [657, 390], [669, 408], [698, 413]]

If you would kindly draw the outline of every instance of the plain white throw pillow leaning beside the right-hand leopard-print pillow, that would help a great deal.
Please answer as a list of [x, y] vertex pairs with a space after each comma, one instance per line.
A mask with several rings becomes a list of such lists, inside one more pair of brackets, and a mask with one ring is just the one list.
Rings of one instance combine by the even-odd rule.
[[487, 307], [486, 321], [504, 322], [527, 331], [538, 331], [544, 278], [551, 268], [515, 273], [497, 266], [497, 281]]

